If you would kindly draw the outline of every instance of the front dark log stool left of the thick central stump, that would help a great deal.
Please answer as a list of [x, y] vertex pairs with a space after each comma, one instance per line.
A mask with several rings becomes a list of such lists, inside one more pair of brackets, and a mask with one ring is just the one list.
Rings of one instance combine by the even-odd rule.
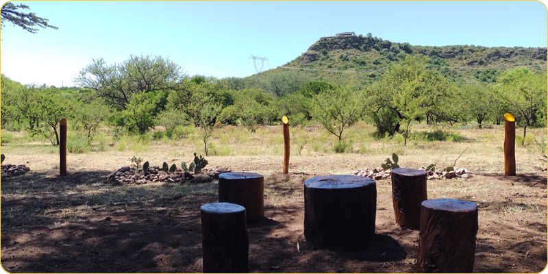
[[248, 273], [245, 208], [234, 203], [201, 207], [203, 273]]

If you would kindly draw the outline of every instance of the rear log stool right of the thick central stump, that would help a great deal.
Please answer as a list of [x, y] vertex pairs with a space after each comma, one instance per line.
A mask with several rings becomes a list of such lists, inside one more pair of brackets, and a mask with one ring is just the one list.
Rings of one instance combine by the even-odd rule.
[[419, 229], [421, 203], [427, 199], [425, 171], [393, 169], [391, 176], [396, 223], [400, 227]]

